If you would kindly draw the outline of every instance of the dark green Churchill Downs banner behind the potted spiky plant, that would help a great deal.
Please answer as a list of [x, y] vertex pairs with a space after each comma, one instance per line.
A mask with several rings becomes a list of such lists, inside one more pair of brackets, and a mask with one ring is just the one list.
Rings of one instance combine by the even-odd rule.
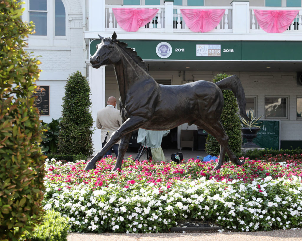
[[[279, 150], [279, 122], [280, 121], [263, 121], [261, 129], [257, 133], [257, 137], [253, 142], [261, 148]], [[243, 143], [246, 139], [243, 139]]]

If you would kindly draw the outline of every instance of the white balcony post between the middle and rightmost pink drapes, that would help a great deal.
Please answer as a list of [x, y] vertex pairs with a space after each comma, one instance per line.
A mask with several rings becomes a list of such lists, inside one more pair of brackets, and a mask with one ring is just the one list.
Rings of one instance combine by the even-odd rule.
[[233, 33], [249, 33], [249, 2], [234, 1]]

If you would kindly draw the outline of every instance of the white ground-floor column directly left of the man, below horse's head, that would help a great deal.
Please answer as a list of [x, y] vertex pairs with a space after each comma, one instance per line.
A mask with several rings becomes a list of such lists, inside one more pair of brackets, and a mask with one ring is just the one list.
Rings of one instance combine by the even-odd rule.
[[102, 148], [101, 130], [96, 128], [96, 117], [98, 110], [105, 108], [105, 66], [95, 69], [89, 64], [89, 85], [92, 102], [91, 114], [94, 121], [93, 127], [95, 127], [95, 131], [92, 134], [93, 154], [95, 155]]

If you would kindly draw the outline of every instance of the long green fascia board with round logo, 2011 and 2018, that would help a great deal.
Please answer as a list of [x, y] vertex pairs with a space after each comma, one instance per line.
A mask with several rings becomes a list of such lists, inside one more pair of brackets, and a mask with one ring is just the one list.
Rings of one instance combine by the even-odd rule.
[[[302, 61], [300, 41], [120, 40], [143, 60]], [[89, 43], [94, 55], [101, 39]]]

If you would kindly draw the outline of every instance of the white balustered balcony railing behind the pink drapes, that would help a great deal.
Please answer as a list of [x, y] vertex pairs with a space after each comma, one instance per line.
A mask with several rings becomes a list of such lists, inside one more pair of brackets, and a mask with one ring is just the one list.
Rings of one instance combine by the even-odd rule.
[[[225, 9], [225, 13], [220, 21], [220, 23], [213, 30], [208, 33], [233, 33], [233, 24], [238, 23], [242, 20], [246, 21], [249, 27], [245, 30], [244, 33], [265, 33], [257, 23], [257, 19], [254, 14], [254, 9], [262, 10], [299, 10], [296, 18], [292, 22], [288, 30], [285, 30], [287, 33], [301, 33], [302, 31], [302, 8], [287, 8], [287, 7], [249, 7], [246, 14], [236, 13], [233, 6], [173, 6], [167, 8], [165, 5], [105, 5], [105, 31], [106, 30], [121, 30], [121, 27], [117, 23], [112, 8], [157, 8], [159, 9], [155, 17], [147, 23], [145, 26], [140, 27], [137, 32], [169, 32], [169, 33], [194, 33], [192, 32], [188, 25], [185, 23], [184, 18], [182, 17], [180, 9]], [[249, 12], [249, 13], [248, 13]], [[249, 16], [246, 16], [249, 15]], [[235, 16], [235, 18], [234, 18]], [[239, 16], [239, 17], [238, 17]], [[169, 23], [172, 23], [171, 26], [168, 26], [167, 20]], [[167, 26], [166, 26], [167, 25]], [[168, 31], [167, 29], [170, 28]], [[238, 31], [236, 32], [238, 33]]]

